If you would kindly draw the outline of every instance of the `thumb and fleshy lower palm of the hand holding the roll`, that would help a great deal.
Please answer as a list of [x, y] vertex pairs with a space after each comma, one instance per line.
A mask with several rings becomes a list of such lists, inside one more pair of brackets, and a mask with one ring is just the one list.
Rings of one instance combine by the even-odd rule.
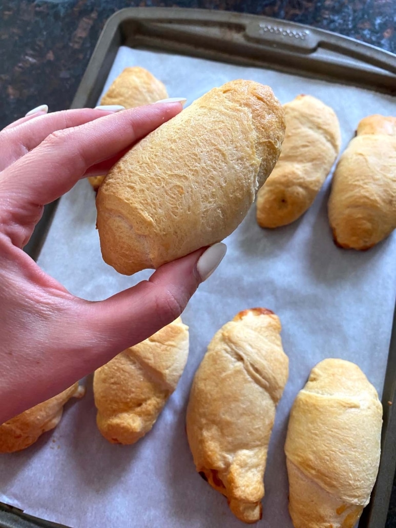
[[[225, 246], [215, 244], [168, 263], [150, 280], [97, 303], [74, 298], [15, 247], [8, 253], [0, 267], [10, 267], [5, 293], [0, 282], [0, 300], [2, 293], [7, 298], [6, 309], [0, 303], [0, 329], [5, 328], [0, 394], [7, 394], [0, 423], [58, 394], [172, 322], [209, 269], [217, 267]], [[15, 268], [18, 259], [24, 262], [23, 273]]]

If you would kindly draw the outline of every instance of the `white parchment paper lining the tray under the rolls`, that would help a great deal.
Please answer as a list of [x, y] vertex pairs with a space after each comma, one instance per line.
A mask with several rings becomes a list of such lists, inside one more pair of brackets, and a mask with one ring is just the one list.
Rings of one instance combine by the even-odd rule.
[[[340, 119], [342, 149], [366, 115], [392, 115], [394, 99], [270, 70], [120, 48], [105, 91], [126, 66], [141, 65], [187, 105], [214, 86], [246, 78], [269, 84], [282, 103], [299, 93], [319, 97]], [[297, 222], [262, 230], [254, 206], [225, 242], [228, 253], [202, 284], [183, 320], [190, 355], [176, 392], [153, 430], [135, 446], [114, 446], [96, 428], [91, 379], [87, 395], [69, 403], [60, 425], [31, 448], [0, 457], [0, 500], [73, 528], [104, 526], [243, 526], [195, 472], [185, 435], [194, 372], [214, 333], [240, 310], [263, 306], [282, 323], [290, 375], [277, 409], [257, 526], [292, 528], [283, 452], [291, 404], [310, 369], [325, 357], [360, 365], [381, 395], [396, 297], [396, 233], [368, 252], [334, 246], [327, 221], [329, 179]], [[95, 194], [79, 182], [58, 206], [39, 264], [73, 294], [108, 297], [147, 278], [118, 275], [101, 259]], [[359, 434], [359, 431], [356, 432]]]

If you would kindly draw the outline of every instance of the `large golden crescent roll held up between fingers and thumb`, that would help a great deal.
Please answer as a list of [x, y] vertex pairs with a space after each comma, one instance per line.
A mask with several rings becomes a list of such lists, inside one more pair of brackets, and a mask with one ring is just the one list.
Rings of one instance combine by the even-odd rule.
[[142, 139], [100, 186], [105, 262], [125, 275], [227, 237], [272, 171], [284, 111], [268, 86], [214, 88]]

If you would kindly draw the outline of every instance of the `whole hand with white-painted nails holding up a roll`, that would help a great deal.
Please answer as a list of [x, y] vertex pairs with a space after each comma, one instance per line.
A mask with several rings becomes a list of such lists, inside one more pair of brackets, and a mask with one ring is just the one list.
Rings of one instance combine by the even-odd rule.
[[68, 388], [172, 322], [220, 263], [224, 244], [170, 262], [106, 300], [71, 295], [27, 256], [43, 206], [182, 109], [67, 110], [0, 131], [0, 423]]

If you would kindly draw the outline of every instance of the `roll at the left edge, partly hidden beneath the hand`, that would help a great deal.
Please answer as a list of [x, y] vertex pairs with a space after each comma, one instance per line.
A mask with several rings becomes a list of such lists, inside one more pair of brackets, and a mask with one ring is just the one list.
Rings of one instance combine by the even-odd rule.
[[81, 398], [82, 386], [69, 389], [27, 409], [0, 425], [0, 453], [12, 453], [31, 446], [46, 431], [54, 429], [62, 418], [63, 406], [70, 398]]

